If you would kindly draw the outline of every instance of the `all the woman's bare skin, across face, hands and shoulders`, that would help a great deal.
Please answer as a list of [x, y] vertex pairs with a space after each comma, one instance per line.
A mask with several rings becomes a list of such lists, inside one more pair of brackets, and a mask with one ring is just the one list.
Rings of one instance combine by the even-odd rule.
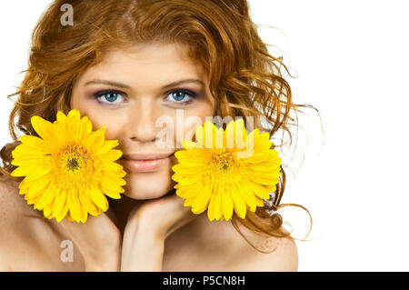
[[[155, 77], [153, 77], [155, 76]], [[181, 79], [198, 79], [161, 89]], [[108, 80], [116, 85], [101, 84]], [[124, 86], [125, 85], [125, 86]], [[185, 105], [170, 92], [184, 88], [196, 92]], [[102, 105], [95, 93], [113, 90], [117, 105]], [[175, 93], [174, 93], [175, 94]], [[106, 95], [105, 95], [106, 96]], [[111, 95], [112, 96], [112, 95]], [[100, 97], [100, 99], [102, 99]], [[192, 99], [192, 98], [186, 98]], [[119, 101], [119, 102], [117, 102]], [[107, 100], [103, 101], [107, 103]], [[184, 138], [195, 125], [178, 125], [176, 110], [201, 122], [212, 116], [214, 99], [201, 66], [185, 57], [181, 45], [139, 46], [137, 51], [114, 51], [77, 80], [71, 107], [87, 115], [95, 126], [106, 125], [106, 139], [119, 140], [128, 153], [174, 153], [159, 149], [155, 120], [167, 116]], [[174, 135], [175, 144], [180, 142]], [[121, 161], [118, 161], [121, 162]], [[127, 168], [125, 193], [110, 199], [106, 213], [90, 216], [85, 224], [43, 218], [18, 195], [18, 183], [0, 179], [0, 270], [3, 271], [296, 271], [298, 255], [289, 239], [274, 241], [276, 250], [262, 254], [248, 245], [230, 222], [209, 222], [193, 215], [184, 200], [168, 195], [175, 185], [169, 165], [155, 172]], [[247, 234], [251, 234], [247, 232]], [[74, 261], [63, 262], [61, 242], [74, 242]], [[271, 240], [270, 240], [271, 242]], [[237, 254], [240, 255], [237, 255]]]

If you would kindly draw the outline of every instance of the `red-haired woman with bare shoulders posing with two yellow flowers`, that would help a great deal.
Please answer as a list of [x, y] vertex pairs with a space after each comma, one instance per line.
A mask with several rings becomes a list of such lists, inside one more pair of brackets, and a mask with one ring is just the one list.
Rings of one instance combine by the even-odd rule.
[[[70, 8], [74, 21], [66, 25]], [[43, 218], [18, 195], [21, 179], [10, 175], [11, 152], [20, 144], [13, 128], [15, 142], [1, 151], [1, 269], [296, 271], [293, 238], [280, 215], [267, 214], [280, 207], [284, 174], [270, 207], [258, 207], [244, 220], [234, 216], [246, 225], [240, 230], [183, 206], [171, 179], [181, 140], [174, 134], [173, 147], [157, 145], [165, 138], [156, 125], [160, 117], [173, 120], [172, 131], [184, 136], [194, 127], [178, 122], [180, 112], [202, 122], [206, 116], [254, 116], [254, 124], [271, 135], [288, 131], [297, 105], [275, 62], [281, 63], [267, 53], [245, 0], [56, 0], [35, 27], [10, 120], [18, 115], [15, 127], [36, 135], [31, 116], [52, 122], [58, 110], [77, 109], [93, 130], [106, 125], [105, 138], [119, 140], [124, 153], [118, 163], [127, 173], [125, 193], [85, 224]], [[264, 235], [261, 248], [273, 243], [273, 252], [248, 244], [247, 237], [263, 233], [270, 237]], [[70, 242], [67, 261], [63, 252]]]

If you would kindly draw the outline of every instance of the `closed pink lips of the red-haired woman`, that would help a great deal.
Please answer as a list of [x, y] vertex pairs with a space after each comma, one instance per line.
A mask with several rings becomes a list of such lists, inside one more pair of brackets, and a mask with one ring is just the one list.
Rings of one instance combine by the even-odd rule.
[[133, 172], [154, 172], [170, 163], [174, 154], [130, 154], [123, 155], [120, 160]]

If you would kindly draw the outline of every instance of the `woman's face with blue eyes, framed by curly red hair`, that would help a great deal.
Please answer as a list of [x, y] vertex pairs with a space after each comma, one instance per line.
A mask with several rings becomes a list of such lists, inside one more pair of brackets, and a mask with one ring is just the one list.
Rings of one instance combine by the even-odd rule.
[[125, 195], [149, 199], [165, 195], [175, 185], [173, 154], [184, 139], [194, 140], [199, 121], [213, 115], [214, 97], [202, 66], [187, 57], [184, 45], [135, 49], [112, 51], [80, 75], [71, 109], [88, 116], [93, 130], [105, 125], [105, 139], [118, 140], [115, 149], [123, 157], [138, 159], [117, 160], [126, 171]]

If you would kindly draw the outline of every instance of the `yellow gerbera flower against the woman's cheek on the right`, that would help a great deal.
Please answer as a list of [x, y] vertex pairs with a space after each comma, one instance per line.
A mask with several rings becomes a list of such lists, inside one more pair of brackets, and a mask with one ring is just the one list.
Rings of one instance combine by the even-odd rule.
[[281, 158], [270, 149], [268, 133], [254, 129], [246, 135], [241, 118], [225, 131], [205, 121], [196, 127], [195, 138], [175, 152], [178, 164], [172, 167], [176, 195], [185, 198], [185, 206], [194, 214], [207, 209], [210, 221], [229, 220], [233, 211], [244, 218], [247, 209], [264, 206], [281, 175]]

